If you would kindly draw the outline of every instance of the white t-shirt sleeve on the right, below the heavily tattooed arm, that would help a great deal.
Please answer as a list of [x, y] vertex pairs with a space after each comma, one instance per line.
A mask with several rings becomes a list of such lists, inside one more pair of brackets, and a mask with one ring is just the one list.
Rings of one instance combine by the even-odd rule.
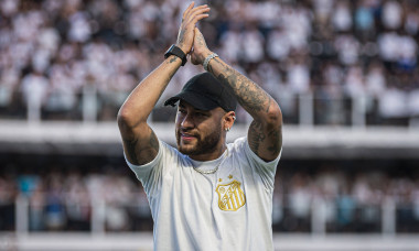
[[256, 172], [260, 175], [261, 181], [267, 189], [273, 189], [275, 174], [277, 172], [277, 166], [279, 160], [281, 159], [281, 152], [278, 154], [277, 159], [270, 162], [266, 162], [260, 159], [254, 151], [251, 151], [247, 137], [244, 138], [243, 148], [248, 157], [251, 166], [255, 167]]

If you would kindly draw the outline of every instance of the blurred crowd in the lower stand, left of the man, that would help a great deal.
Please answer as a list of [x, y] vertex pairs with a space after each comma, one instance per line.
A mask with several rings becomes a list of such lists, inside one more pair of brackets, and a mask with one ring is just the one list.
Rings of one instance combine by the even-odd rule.
[[7, 170], [0, 174], [0, 231], [15, 230], [17, 208], [28, 210], [30, 231], [152, 230], [147, 196], [126, 166]]

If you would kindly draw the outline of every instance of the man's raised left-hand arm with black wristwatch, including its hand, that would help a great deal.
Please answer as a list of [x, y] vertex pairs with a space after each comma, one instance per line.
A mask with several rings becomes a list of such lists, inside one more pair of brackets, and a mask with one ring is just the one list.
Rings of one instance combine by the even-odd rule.
[[[185, 54], [192, 50], [194, 28], [197, 21], [208, 17], [210, 8], [194, 8], [192, 2], [183, 13], [176, 46]], [[158, 138], [147, 119], [173, 75], [181, 67], [181, 58], [171, 55], [150, 73], [128, 96], [118, 112], [118, 127], [122, 137], [123, 152], [135, 165], [151, 162], [159, 152]]]

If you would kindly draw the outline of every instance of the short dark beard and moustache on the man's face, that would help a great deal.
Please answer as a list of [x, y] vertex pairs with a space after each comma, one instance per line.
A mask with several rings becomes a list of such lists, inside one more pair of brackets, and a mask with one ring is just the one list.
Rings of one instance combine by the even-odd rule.
[[195, 134], [194, 144], [182, 144], [181, 143], [181, 132], [176, 130], [176, 143], [179, 152], [185, 155], [200, 155], [203, 153], [212, 152], [217, 148], [219, 139], [222, 137], [222, 128], [217, 127], [208, 135], [202, 138], [200, 134]]

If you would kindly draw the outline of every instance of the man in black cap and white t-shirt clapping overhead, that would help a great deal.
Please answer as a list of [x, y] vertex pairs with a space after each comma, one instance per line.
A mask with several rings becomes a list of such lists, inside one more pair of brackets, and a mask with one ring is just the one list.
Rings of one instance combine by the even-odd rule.
[[[193, 2], [187, 7], [175, 46], [120, 108], [125, 156], [149, 199], [155, 250], [273, 250], [281, 111], [257, 84], [207, 48], [195, 25], [208, 11]], [[159, 141], [147, 119], [187, 54], [206, 73], [165, 102], [179, 102], [174, 149]], [[236, 99], [254, 121], [247, 137], [226, 144]]]

